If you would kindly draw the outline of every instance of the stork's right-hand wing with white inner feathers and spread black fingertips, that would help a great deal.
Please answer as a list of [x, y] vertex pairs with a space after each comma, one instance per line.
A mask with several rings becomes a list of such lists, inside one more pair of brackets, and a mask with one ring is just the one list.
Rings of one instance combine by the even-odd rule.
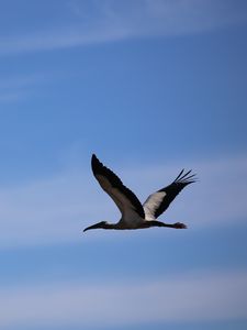
[[143, 205], [146, 220], [157, 219], [187, 185], [195, 182], [195, 175], [189, 175], [190, 173], [191, 170], [184, 174], [182, 169], [173, 183], [147, 198]]

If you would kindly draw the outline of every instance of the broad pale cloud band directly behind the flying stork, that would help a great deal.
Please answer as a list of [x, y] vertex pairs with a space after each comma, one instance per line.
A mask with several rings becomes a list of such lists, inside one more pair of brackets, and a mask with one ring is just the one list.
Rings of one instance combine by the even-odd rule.
[[[190, 162], [191, 163], [191, 162]], [[247, 219], [247, 157], [194, 162], [200, 180], [187, 187], [160, 216], [189, 228], [240, 223]], [[168, 185], [181, 164], [117, 170], [142, 201]], [[190, 168], [188, 166], [188, 168]], [[161, 183], [161, 184], [160, 184]], [[117, 221], [119, 210], [94, 180], [90, 167], [0, 189], [0, 249], [80, 239], [80, 230], [100, 220]]]

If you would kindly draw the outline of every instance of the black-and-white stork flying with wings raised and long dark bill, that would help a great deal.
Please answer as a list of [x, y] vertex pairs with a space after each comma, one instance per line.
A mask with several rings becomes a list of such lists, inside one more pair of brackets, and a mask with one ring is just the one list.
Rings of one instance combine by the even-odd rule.
[[176, 179], [167, 187], [151, 194], [144, 205], [141, 204], [135, 194], [123, 185], [121, 179], [106, 166], [104, 166], [93, 154], [91, 158], [92, 173], [99, 182], [101, 188], [113, 199], [122, 217], [116, 223], [106, 221], [98, 222], [87, 227], [89, 229], [142, 229], [149, 227], [168, 227], [175, 229], [186, 229], [181, 222], [165, 223], [156, 220], [167, 210], [170, 202], [187, 186], [194, 183], [195, 175], [191, 170], [184, 173], [182, 169]]

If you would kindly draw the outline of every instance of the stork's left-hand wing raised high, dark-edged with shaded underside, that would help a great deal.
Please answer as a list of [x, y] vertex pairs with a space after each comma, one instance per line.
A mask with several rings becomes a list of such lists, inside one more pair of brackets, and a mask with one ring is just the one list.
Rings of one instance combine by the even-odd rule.
[[135, 215], [145, 218], [142, 204], [135, 194], [123, 185], [121, 179], [93, 154], [91, 158], [92, 173], [102, 189], [114, 200], [124, 218]]

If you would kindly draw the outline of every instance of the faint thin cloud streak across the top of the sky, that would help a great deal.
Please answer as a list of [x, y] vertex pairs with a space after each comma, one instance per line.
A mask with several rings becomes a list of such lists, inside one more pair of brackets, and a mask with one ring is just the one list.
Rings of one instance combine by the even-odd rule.
[[[37, 52], [114, 42], [151, 35], [186, 35], [246, 22], [246, 11], [235, 1], [143, 0], [97, 1], [92, 10], [71, 1], [71, 20], [49, 31], [13, 35], [0, 41], [0, 54]], [[124, 3], [124, 6], [123, 6]], [[76, 22], [76, 23], [75, 23]]]

